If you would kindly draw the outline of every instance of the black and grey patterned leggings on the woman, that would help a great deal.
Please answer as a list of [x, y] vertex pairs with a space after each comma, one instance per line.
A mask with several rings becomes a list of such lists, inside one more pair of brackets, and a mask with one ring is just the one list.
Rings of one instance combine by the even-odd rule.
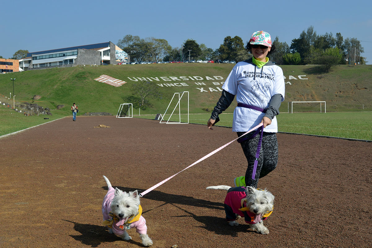
[[[237, 132], [237, 134], [240, 136], [243, 135], [244, 132]], [[251, 136], [251, 133], [247, 133], [243, 137], [249, 136]], [[245, 178], [246, 186], [252, 186], [255, 188], [257, 188], [259, 178], [269, 174], [278, 164], [278, 140], [276, 139], [276, 133], [264, 132], [255, 180], [252, 179], [253, 165], [254, 160], [256, 160], [257, 143], [259, 138], [260, 134], [257, 134], [253, 139], [248, 139], [240, 143], [241, 148], [243, 148], [244, 155], [246, 155], [248, 161]]]

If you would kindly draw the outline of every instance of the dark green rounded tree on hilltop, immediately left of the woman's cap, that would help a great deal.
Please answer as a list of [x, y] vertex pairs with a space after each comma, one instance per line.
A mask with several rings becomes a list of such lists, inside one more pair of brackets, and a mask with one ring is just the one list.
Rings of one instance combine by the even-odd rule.
[[245, 50], [243, 40], [239, 36], [231, 38], [226, 36], [224, 43], [218, 48], [219, 56], [221, 60], [237, 60], [238, 54], [242, 54], [242, 50]]

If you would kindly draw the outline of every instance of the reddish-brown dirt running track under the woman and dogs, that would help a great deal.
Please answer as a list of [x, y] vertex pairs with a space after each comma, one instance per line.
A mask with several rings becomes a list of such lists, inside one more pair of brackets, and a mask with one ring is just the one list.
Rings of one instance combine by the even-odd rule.
[[[100, 124], [110, 128], [94, 128]], [[0, 139], [0, 247], [142, 247], [101, 225], [113, 187], [144, 191], [236, 138], [229, 128], [115, 117], [60, 119]], [[268, 235], [225, 222], [226, 191], [244, 175], [237, 142], [141, 198], [153, 247], [371, 247], [371, 142], [278, 134]]]

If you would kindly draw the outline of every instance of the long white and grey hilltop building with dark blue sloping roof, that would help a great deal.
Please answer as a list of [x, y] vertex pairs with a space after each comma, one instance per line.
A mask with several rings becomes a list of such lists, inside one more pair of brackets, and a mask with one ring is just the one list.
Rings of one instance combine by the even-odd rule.
[[19, 70], [36, 70], [51, 67], [72, 67], [74, 65], [100, 65], [129, 62], [129, 55], [111, 41], [29, 52], [19, 60]]

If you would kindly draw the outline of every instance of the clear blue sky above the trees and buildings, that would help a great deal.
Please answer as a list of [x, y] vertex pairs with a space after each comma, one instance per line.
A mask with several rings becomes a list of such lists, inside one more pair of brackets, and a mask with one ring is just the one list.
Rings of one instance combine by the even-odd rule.
[[216, 49], [226, 36], [246, 43], [257, 30], [290, 46], [302, 30], [340, 32], [357, 38], [372, 64], [372, 3], [354, 1], [1, 1], [0, 55], [111, 41], [125, 35], [166, 39], [180, 47], [187, 39]]

